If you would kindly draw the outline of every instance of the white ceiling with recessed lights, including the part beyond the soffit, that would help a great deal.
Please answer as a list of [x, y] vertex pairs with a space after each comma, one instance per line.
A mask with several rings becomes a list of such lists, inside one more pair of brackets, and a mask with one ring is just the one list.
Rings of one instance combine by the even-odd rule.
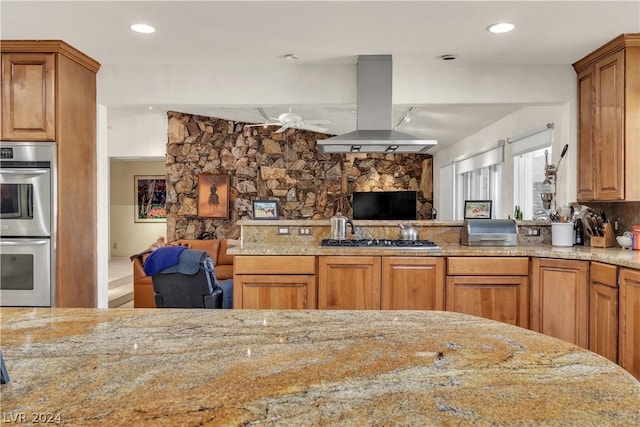
[[[570, 65], [621, 33], [640, 32], [640, 0], [626, 1], [8, 1], [0, 2], [2, 39], [60, 39], [103, 66], [228, 63], [260, 66], [285, 61], [354, 64], [361, 54], [405, 61]], [[509, 21], [516, 30], [486, 27]], [[153, 35], [128, 27], [146, 22]], [[267, 82], [268, 84], [268, 82]], [[115, 107], [115, 105], [108, 107]], [[522, 104], [415, 106], [402, 131], [427, 127], [439, 147], [473, 134]], [[263, 105], [277, 116], [292, 107], [303, 119], [327, 119], [329, 133], [355, 129], [354, 105]], [[262, 122], [256, 108], [163, 105], [205, 116]], [[394, 120], [407, 106], [394, 106]], [[434, 122], [434, 117], [438, 120]], [[424, 133], [424, 132], [423, 132]]]

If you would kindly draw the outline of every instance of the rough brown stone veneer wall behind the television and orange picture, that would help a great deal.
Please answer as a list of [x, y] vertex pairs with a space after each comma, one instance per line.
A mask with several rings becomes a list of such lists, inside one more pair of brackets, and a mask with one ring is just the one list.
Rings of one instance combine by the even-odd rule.
[[[429, 219], [432, 157], [415, 154], [323, 154], [316, 140], [328, 135], [178, 112], [168, 113], [167, 239], [203, 233], [237, 239], [239, 219], [251, 219], [253, 200], [277, 200], [280, 218], [351, 216], [354, 191], [418, 191], [418, 219]], [[201, 173], [228, 174], [229, 218], [198, 218]]]

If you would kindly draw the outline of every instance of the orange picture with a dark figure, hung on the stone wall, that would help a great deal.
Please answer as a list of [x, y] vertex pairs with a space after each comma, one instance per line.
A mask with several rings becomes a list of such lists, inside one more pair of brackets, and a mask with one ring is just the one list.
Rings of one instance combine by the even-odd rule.
[[198, 175], [198, 218], [229, 218], [229, 175]]

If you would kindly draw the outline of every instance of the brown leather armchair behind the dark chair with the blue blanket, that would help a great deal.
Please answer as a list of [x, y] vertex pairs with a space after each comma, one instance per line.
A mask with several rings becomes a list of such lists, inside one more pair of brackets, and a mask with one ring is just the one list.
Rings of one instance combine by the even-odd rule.
[[[233, 279], [233, 255], [227, 255], [226, 240], [180, 239], [171, 244], [185, 245], [190, 249], [206, 251], [213, 261], [218, 282]], [[135, 308], [155, 308], [153, 282], [142, 268], [147, 254], [133, 257], [133, 306]]]

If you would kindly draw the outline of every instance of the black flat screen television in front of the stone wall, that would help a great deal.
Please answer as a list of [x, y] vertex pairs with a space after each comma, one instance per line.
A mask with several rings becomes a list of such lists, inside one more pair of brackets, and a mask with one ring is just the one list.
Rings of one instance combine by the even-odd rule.
[[370, 191], [353, 193], [353, 219], [415, 220], [417, 192]]

